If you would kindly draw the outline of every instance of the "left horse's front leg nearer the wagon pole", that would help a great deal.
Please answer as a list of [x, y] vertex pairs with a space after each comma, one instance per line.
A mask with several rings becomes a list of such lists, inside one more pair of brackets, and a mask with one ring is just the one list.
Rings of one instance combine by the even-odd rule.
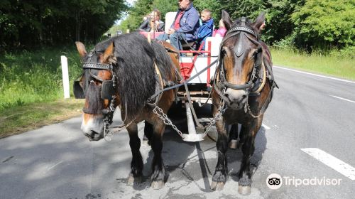
[[164, 187], [165, 178], [165, 166], [163, 158], [161, 157], [161, 151], [163, 149], [163, 132], [165, 130], [165, 124], [160, 119], [153, 125], [153, 136], [151, 139], [151, 146], [153, 149], [153, 174], [151, 176], [151, 188], [160, 189]]

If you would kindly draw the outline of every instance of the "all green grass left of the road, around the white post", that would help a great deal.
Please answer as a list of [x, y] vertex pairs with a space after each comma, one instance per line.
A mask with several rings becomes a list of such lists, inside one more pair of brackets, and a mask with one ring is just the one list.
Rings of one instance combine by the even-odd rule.
[[72, 85], [82, 72], [75, 45], [0, 55], [0, 138], [81, 113], [82, 100], [63, 99], [60, 55]]

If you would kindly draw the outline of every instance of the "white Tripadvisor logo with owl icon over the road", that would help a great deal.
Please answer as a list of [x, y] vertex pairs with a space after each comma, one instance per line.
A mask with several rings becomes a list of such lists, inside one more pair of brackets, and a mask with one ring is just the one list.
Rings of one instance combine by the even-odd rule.
[[340, 185], [342, 179], [330, 179], [330, 178], [295, 178], [289, 176], [281, 177], [277, 173], [272, 173], [266, 178], [266, 185], [268, 188], [273, 190], [278, 189], [281, 185], [291, 185], [291, 186], [300, 186], [300, 185]]

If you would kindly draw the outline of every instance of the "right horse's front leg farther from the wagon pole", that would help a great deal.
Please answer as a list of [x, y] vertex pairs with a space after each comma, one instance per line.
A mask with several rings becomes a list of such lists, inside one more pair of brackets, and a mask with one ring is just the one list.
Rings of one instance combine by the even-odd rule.
[[239, 187], [238, 192], [241, 195], [249, 195], [251, 193], [251, 171], [250, 171], [250, 159], [254, 153], [254, 141], [258, 130], [261, 127], [263, 116], [258, 119], [253, 119], [249, 124], [242, 124], [241, 136], [243, 145], [241, 151], [243, 152], [243, 158], [241, 160], [241, 168], [239, 170]]

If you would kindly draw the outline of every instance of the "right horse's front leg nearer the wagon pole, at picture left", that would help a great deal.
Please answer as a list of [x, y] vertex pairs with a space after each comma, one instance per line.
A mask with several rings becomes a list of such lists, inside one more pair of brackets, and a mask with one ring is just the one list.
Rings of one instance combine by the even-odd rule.
[[211, 188], [212, 190], [222, 190], [224, 183], [226, 183], [226, 177], [228, 173], [226, 151], [228, 149], [228, 125], [224, 122], [223, 118], [220, 118], [216, 122], [216, 127], [218, 131], [217, 139], [217, 151], [218, 151], [218, 161], [217, 166], [212, 177]]

